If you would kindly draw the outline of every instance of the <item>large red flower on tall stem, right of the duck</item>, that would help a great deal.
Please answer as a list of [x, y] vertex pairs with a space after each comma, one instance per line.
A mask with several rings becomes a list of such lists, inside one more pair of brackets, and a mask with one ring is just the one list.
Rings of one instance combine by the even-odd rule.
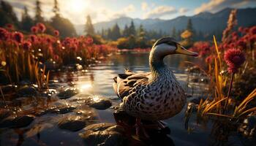
[[227, 64], [227, 70], [230, 73], [238, 72], [238, 68], [244, 64], [245, 56], [241, 50], [229, 49], [225, 51], [224, 59]]

